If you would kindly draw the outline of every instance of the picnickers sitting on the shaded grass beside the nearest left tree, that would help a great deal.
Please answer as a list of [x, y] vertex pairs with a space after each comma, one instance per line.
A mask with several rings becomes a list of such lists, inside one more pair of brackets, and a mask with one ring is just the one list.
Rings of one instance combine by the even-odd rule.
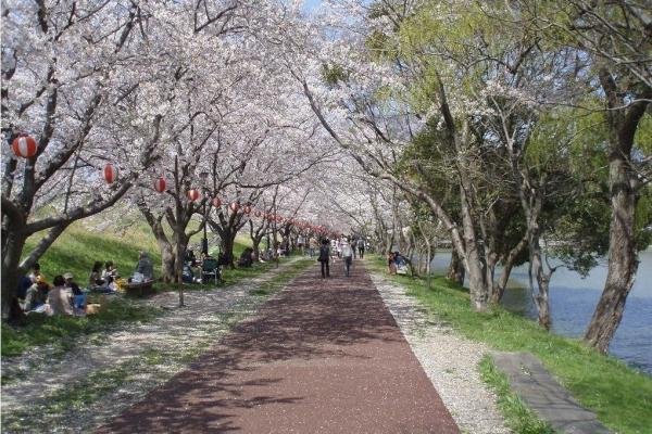
[[[140, 252], [138, 265], [128, 282], [153, 279], [153, 265], [147, 252]], [[89, 273], [85, 288], [79, 286], [72, 272], [54, 276], [50, 284], [40, 270], [38, 263], [34, 264], [28, 276], [22, 279], [18, 288], [18, 299], [25, 312], [42, 312], [47, 315], [85, 315], [87, 314], [87, 294], [112, 294], [123, 283], [117, 268], [112, 260], [101, 263], [96, 260]]]

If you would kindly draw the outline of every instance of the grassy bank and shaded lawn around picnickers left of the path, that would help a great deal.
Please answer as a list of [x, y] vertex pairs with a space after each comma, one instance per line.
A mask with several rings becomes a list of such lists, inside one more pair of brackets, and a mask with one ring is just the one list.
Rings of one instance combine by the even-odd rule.
[[[106, 219], [97, 217], [96, 221]], [[89, 220], [92, 222], [92, 219]], [[27, 241], [25, 252], [29, 252], [43, 234], [36, 234]], [[195, 239], [193, 239], [195, 241]], [[201, 238], [198, 242], [201, 242]], [[248, 237], [238, 235], [235, 252], [239, 254], [250, 245]], [[39, 259], [41, 271], [49, 282], [57, 275], [72, 272], [80, 286], [86, 286], [88, 276], [96, 260], [113, 260], [123, 277], [129, 276], [136, 268], [138, 252], [148, 251], [154, 264], [154, 276], [160, 275], [161, 254], [149, 227], [142, 222], [120, 229], [115, 225], [102, 230], [90, 230], [82, 222], [71, 226]], [[271, 267], [254, 267], [246, 270], [225, 270], [225, 285], [264, 272]], [[173, 288], [163, 288], [161, 290]], [[186, 289], [202, 289], [209, 285], [185, 285]], [[96, 301], [92, 301], [96, 302]], [[1, 355], [16, 356], [25, 349], [47, 343], [54, 343], [65, 349], [79, 334], [97, 333], [111, 324], [123, 321], [147, 321], [161, 310], [134, 304], [129, 299], [104, 299], [103, 308], [97, 316], [87, 318], [28, 316], [27, 324], [12, 328], [2, 324]]]

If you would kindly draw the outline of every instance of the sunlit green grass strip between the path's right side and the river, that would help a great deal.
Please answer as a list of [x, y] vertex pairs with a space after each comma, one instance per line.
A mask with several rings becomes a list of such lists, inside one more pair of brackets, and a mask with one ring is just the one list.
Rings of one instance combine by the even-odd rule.
[[[374, 268], [384, 269], [376, 258]], [[439, 320], [464, 336], [509, 352], [529, 352], [600, 421], [618, 433], [652, 433], [652, 378], [622, 361], [598, 354], [577, 340], [548, 333], [535, 322], [496, 307], [489, 314], [471, 311], [468, 293], [443, 278], [431, 289], [422, 279], [392, 277], [409, 289]]]

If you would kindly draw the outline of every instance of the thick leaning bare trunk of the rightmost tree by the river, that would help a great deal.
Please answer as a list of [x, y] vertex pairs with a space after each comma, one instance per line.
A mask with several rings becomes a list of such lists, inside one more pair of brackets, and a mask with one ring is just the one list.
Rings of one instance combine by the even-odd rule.
[[600, 71], [600, 82], [605, 91], [609, 107], [606, 113], [610, 131], [609, 187], [612, 204], [612, 219], [609, 240], [609, 270], [604, 290], [585, 341], [605, 353], [623, 319], [625, 302], [634, 285], [638, 269], [635, 238], [637, 174], [631, 169], [631, 150], [638, 124], [648, 106], [645, 99], [652, 98], [652, 89], [647, 89], [641, 100], [628, 108], [624, 92], [616, 86], [614, 77]]

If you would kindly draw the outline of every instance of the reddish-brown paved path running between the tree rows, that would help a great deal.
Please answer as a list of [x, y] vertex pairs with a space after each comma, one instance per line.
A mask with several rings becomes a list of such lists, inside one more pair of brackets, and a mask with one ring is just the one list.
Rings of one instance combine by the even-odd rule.
[[105, 433], [459, 433], [360, 261], [312, 267]]

